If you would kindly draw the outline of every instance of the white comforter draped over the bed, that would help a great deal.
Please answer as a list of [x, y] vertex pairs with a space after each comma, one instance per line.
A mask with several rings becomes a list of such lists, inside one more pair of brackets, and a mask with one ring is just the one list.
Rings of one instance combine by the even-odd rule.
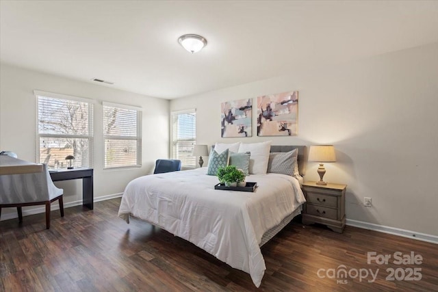
[[186, 239], [250, 274], [259, 287], [266, 270], [259, 243], [263, 233], [305, 202], [300, 184], [283, 174], [250, 175], [255, 192], [214, 189], [207, 168], [142, 176], [123, 194], [119, 217], [129, 214]]

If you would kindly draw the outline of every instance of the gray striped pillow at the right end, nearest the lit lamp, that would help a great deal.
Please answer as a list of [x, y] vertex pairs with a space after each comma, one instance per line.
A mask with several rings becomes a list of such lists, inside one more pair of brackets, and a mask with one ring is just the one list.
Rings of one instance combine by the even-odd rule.
[[298, 169], [298, 148], [289, 152], [272, 152], [269, 154], [268, 172], [295, 176]]

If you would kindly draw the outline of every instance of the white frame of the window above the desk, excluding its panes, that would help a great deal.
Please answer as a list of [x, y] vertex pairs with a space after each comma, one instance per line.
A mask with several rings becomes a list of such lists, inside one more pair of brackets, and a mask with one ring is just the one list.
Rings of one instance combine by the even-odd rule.
[[[81, 168], [93, 168], [93, 155], [94, 155], [94, 104], [96, 103], [91, 98], [83, 98], [78, 96], [71, 96], [67, 94], [59, 94], [54, 92], [45, 92], [42, 90], [34, 90], [34, 96], [36, 97], [36, 163], [40, 162], [40, 138], [77, 138], [88, 139], [88, 165]], [[88, 103], [88, 135], [64, 135], [64, 134], [45, 134], [40, 133], [40, 116], [39, 116], [39, 97], [63, 99], [67, 101], [77, 101], [79, 103]]]

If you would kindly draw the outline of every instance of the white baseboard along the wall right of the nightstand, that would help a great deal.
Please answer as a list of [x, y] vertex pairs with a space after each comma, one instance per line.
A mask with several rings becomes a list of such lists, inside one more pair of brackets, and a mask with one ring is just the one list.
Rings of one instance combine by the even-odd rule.
[[394, 228], [390, 226], [372, 224], [368, 222], [362, 222], [362, 221], [350, 220], [350, 219], [347, 219], [346, 224], [348, 226], [355, 226], [363, 229], [378, 231], [381, 233], [388, 233], [391, 235], [398, 235], [400, 237], [407, 237], [411, 239], [417, 239], [420, 241], [426, 241], [426, 242], [438, 244], [438, 236], [436, 235], [417, 233], [416, 231], [405, 230], [405, 229]]

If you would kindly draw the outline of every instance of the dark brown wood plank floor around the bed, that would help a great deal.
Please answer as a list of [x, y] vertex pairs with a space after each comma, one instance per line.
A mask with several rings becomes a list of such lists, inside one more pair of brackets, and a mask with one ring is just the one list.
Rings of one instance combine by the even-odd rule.
[[[0, 291], [438, 291], [438, 245], [350, 226], [337, 234], [298, 222], [263, 246], [267, 269], [257, 289], [248, 274], [188, 241], [140, 220], [126, 224], [116, 215], [119, 203], [68, 208], [65, 217], [53, 211], [50, 230], [44, 214], [24, 217], [21, 225], [0, 222]], [[391, 259], [368, 264], [367, 252]], [[422, 264], [395, 265], [394, 252], [420, 254]], [[329, 278], [339, 265], [350, 276]], [[386, 280], [387, 269], [398, 269], [400, 278], [413, 268], [421, 270], [412, 278], [421, 280]], [[365, 269], [379, 269], [375, 282], [355, 278]]]

